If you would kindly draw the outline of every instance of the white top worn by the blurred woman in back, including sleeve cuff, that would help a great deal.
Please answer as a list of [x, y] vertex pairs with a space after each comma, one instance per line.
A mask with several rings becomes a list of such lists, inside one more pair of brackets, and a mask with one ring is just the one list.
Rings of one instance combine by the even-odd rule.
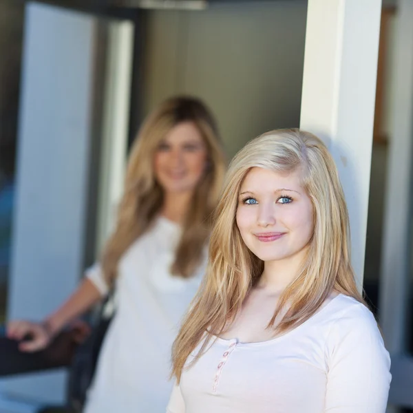
[[[180, 226], [158, 218], [123, 255], [116, 280], [117, 308], [100, 352], [85, 413], [165, 413], [171, 346], [180, 319], [198, 289], [204, 264], [190, 279], [169, 272]], [[104, 295], [99, 266], [87, 277]]]

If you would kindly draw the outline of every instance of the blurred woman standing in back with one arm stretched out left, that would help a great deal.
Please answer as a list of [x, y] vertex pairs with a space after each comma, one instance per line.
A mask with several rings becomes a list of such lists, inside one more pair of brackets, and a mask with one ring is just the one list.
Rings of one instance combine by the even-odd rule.
[[162, 103], [131, 149], [116, 229], [100, 263], [43, 323], [9, 324], [8, 337], [34, 337], [21, 350], [40, 350], [116, 282], [116, 315], [85, 412], [165, 412], [170, 348], [204, 275], [224, 171], [209, 110], [194, 98]]

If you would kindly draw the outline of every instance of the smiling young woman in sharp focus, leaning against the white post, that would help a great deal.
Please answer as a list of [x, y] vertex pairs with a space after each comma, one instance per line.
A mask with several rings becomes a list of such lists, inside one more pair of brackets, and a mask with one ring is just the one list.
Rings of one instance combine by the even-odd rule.
[[169, 413], [384, 413], [390, 358], [354, 282], [324, 144], [298, 129], [235, 156], [207, 276], [173, 346]]

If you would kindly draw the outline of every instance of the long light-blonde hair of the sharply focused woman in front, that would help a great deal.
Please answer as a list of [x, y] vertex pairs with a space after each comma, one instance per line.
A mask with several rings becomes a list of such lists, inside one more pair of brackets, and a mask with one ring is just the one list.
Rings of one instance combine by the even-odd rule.
[[[173, 344], [172, 374], [178, 382], [189, 354], [206, 332], [193, 363], [213, 335], [231, 326], [262, 275], [264, 263], [246, 247], [235, 222], [240, 187], [253, 167], [282, 173], [300, 171], [314, 211], [314, 233], [306, 260], [282, 293], [268, 328], [280, 334], [303, 324], [332, 290], [364, 302], [350, 264], [348, 211], [332, 156], [319, 138], [306, 131], [268, 132], [237, 153], [226, 175], [209, 243], [207, 275]], [[275, 325], [283, 308], [286, 313]]]

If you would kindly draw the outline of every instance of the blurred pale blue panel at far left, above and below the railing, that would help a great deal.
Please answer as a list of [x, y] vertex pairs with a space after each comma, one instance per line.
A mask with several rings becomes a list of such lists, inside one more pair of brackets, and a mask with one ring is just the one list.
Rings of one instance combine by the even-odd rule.
[[[26, 10], [8, 319], [40, 320], [83, 269], [94, 19], [36, 3]], [[2, 381], [59, 403], [63, 374]]]

